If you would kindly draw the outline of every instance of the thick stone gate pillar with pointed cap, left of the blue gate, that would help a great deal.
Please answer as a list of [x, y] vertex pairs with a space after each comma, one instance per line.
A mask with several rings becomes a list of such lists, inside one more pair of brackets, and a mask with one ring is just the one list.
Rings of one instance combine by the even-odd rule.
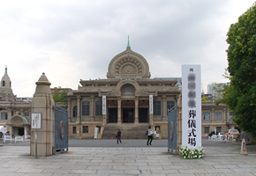
[[[37, 156], [53, 155], [55, 146], [54, 100], [52, 99], [48, 78], [42, 73], [32, 99], [31, 113], [41, 114], [41, 129], [37, 129]], [[35, 156], [35, 129], [31, 129], [30, 154]]]

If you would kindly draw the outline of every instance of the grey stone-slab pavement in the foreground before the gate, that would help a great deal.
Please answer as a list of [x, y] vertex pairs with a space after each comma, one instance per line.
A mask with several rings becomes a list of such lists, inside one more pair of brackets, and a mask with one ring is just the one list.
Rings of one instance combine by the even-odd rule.
[[205, 147], [204, 158], [182, 159], [167, 148], [81, 148], [34, 158], [29, 146], [0, 147], [0, 175], [256, 175], [256, 154], [240, 155], [239, 146]]

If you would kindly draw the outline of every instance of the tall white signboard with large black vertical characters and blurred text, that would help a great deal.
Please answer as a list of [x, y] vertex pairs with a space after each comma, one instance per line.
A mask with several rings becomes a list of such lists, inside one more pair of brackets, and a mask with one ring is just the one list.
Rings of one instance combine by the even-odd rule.
[[182, 65], [182, 146], [201, 147], [200, 65]]

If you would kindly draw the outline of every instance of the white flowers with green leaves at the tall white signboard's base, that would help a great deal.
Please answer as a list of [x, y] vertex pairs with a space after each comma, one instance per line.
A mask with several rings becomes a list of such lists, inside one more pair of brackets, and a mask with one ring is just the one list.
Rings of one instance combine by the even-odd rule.
[[200, 159], [203, 158], [204, 148], [203, 147], [198, 147], [197, 149], [189, 149], [187, 146], [180, 146], [179, 147], [179, 154], [181, 158], [184, 159]]

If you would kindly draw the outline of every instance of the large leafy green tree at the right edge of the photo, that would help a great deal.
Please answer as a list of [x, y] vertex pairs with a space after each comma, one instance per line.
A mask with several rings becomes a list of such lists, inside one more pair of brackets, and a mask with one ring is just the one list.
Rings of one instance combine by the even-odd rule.
[[230, 26], [227, 36], [230, 85], [222, 89], [221, 101], [234, 112], [237, 125], [256, 137], [255, 4]]

